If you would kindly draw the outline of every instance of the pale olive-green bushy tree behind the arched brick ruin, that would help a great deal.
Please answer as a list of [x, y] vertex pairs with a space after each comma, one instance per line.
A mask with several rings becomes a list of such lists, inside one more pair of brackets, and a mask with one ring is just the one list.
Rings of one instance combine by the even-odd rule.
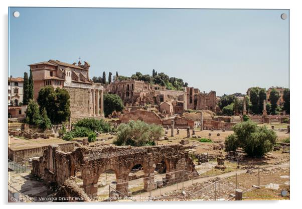
[[158, 125], [148, 125], [142, 121], [130, 121], [120, 124], [117, 128], [117, 137], [113, 144], [117, 146], [149, 146], [155, 145], [156, 140], [164, 135], [164, 129]]

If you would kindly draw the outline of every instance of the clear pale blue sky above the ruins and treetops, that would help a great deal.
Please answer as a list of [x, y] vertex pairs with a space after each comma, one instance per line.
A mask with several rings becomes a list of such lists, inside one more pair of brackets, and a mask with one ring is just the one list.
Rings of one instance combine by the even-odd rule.
[[79, 57], [91, 78], [155, 69], [220, 96], [289, 87], [289, 10], [9, 8], [9, 75]]

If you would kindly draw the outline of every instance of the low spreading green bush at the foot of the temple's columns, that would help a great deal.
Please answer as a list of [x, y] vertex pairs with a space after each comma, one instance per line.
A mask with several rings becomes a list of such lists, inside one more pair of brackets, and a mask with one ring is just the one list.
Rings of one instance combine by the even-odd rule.
[[96, 120], [93, 118], [83, 119], [78, 121], [74, 127], [85, 127], [90, 129], [91, 131], [97, 132], [110, 132], [113, 131], [113, 128], [108, 122], [105, 122], [103, 119]]

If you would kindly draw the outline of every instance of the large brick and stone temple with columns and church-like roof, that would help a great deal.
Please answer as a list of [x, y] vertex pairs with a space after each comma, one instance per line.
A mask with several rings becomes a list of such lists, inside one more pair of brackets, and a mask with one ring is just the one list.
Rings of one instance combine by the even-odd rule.
[[44, 86], [64, 88], [70, 95], [70, 118], [103, 117], [103, 93], [101, 84], [89, 78], [90, 65], [87, 62], [69, 64], [59, 60], [49, 60], [29, 65], [34, 80], [34, 98], [37, 99]]

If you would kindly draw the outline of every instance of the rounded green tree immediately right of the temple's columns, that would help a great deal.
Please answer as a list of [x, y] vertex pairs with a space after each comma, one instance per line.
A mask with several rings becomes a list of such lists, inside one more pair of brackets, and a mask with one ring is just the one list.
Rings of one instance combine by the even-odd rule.
[[123, 101], [117, 94], [104, 93], [104, 115], [107, 117], [113, 111], [121, 112], [124, 109]]

